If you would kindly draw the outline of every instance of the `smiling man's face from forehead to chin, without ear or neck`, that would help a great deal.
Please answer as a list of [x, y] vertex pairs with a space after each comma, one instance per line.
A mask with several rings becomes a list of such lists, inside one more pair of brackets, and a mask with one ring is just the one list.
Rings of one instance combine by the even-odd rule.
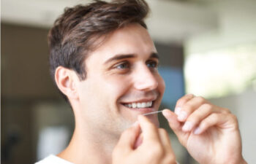
[[[138, 114], [157, 111], [165, 90], [158, 63], [157, 50], [145, 28], [131, 24], [114, 31], [89, 54], [86, 79], [78, 84], [86, 125], [119, 134]], [[158, 125], [157, 114], [149, 117]]]

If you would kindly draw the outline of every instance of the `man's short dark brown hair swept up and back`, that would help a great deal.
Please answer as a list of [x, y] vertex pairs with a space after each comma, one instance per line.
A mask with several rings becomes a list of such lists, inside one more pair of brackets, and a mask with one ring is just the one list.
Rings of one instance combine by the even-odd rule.
[[[144, 0], [95, 0], [91, 4], [65, 8], [48, 34], [53, 81], [58, 66], [76, 71], [80, 80], [86, 79], [84, 61], [97, 47], [94, 43], [130, 23], [139, 23], [147, 28], [144, 19], [148, 11]], [[66, 95], [64, 98], [67, 100]]]

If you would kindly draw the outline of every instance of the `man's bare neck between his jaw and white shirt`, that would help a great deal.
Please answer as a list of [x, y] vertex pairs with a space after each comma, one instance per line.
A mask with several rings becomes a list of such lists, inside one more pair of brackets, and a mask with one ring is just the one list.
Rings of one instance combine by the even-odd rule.
[[69, 146], [58, 156], [75, 164], [110, 164], [118, 137], [96, 134], [94, 130], [75, 128]]

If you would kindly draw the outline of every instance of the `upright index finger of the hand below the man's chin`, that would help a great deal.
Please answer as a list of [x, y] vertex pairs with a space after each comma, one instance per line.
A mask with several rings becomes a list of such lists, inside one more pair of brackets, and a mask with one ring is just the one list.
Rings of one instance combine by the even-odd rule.
[[[138, 116], [138, 122], [143, 133], [143, 140], [146, 141], [158, 141], [159, 134], [157, 127], [143, 115]], [[143, 142], [144, 142], [143, 141]]]

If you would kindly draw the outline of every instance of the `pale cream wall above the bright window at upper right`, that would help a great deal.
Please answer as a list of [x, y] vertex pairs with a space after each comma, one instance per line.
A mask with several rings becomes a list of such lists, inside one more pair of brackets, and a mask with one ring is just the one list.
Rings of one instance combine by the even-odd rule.
[[187, 54], [256, 42], [256, 1], [223, 0], [209, 4], [218, 15], [218, 28], [189, 36]]

